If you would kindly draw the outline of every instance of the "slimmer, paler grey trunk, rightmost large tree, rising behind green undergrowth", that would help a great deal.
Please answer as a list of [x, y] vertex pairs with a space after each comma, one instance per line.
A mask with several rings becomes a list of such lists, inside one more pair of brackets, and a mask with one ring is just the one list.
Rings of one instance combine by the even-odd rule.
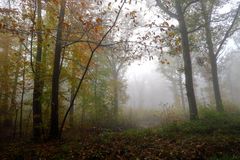
[[208, 17], [205, 3], [202, 0], [201, 0], [201, 6], [202, 6], [202, 14], [203, 14], [204, 21], [205, 21], [204, 27], [205, 27], [208, 55], [209, 55], [210, 64], [211, 64], [212, 83], [213, 83], [216, 109], [217, 109], [217, 111], [222, 112], [224, 109], [223, 109], [222, 98], [221, 98], [219, 82], [218, 82], [217, 59], [214, 54], [212, 33], [211, 33], [211, 29], [210, 29], [210, 20]]

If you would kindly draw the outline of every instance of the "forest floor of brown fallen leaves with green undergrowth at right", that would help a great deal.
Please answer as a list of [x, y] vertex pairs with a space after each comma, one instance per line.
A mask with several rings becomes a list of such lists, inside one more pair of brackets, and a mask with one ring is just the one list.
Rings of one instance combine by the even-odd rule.
[[[151, 129], [79, 131], [77, 138], [1, 143], [0, 159], [240, 159], [239, 114], [209, 115]], [[65, 134], [64, 137], [66, 137]]]

